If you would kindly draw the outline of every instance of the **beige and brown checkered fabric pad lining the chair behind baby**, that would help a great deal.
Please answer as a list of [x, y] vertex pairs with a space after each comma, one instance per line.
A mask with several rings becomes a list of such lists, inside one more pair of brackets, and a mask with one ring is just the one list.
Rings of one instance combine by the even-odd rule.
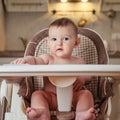
[[[79, 46], [74, 48], [73, 55], [82, 57], [87, 64], [98, 64], [98, 54], [96, 50], [96, 46], [88, 37], [80, 35], [81, 43]], [[46, 45], [46, 38], [41, 40], [36, 47], [35, 56], [40, 56], [41, 54], [50, 53], [48, 46]], [[97, 78], [96, 78], [97, 79]], [[97, 86], [98, 80], [92, 80], [91, 84], [87, 85], [87, 88], [91, 90], [94, 94], [94, 97], [97, 97]], [[44, 82], [43, 77], [37, 76], [34, 77], [34, 88], [35, 90], [43, 89]]]

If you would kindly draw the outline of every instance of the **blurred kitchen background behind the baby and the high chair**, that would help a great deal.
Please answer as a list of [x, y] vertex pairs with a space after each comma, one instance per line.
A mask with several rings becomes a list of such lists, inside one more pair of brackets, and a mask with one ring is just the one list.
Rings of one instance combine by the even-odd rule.
[[[120, 0], [0, 0], [0, 64], [22, 57], [32, 36], [61, 17], [96, 30], [103, 37], [110, 64], [120, 64]], [[114, 90], [119, 90], [118, 80]], [[115, 104], [119, 98], [116, 92], [111, 120], [120, 119]]]

